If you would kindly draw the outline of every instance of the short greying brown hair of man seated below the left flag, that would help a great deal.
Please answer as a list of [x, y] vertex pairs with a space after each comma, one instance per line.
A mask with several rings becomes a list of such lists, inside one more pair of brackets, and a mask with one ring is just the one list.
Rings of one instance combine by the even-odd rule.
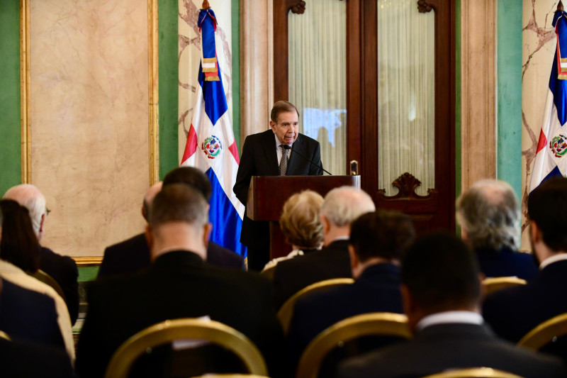
[[148, 223], [154, 229], [169, 222], [204, 226], [208, 223], [207, 206], [205, 197], [197, 189], [185, 184], [165, 185], [152, 202]]

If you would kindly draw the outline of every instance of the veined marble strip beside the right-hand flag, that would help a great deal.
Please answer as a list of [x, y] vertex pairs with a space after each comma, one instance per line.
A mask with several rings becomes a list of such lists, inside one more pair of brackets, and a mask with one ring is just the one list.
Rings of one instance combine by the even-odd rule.
[[556, 47], [551, 26], [556, 0], [524, 0], [522, 12], [522, 249], [529, 250], [527, 187], [544, 117], [551, 62]]

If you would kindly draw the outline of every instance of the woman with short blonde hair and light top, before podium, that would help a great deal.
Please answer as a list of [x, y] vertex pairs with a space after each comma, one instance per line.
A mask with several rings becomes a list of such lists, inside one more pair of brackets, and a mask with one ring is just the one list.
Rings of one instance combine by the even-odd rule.
[[323, 226], [319, 218], [319, 210], [322, 204], [323, 197], [312, 190], [304, 190], [287, 199], [283, 204], [279, 227], [293, 250], [286, 257], [271, 260], [264, 269], [276, 267], [280, 261], [321, 249]]

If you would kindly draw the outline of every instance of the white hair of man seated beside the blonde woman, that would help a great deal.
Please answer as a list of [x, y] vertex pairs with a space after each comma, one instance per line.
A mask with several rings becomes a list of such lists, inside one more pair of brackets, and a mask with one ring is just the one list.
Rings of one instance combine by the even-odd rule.
[[320, 214], [333, 225], [342, 227], [371, 211], [376, 211], [376, 206], [366, 192], [354, 187], [339, 187], [327, 193]]

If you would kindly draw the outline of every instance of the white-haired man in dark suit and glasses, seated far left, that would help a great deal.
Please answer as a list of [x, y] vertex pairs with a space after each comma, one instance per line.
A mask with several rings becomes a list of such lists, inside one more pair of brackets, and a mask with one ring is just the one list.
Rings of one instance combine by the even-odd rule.
[[[16, 185], [16, 187], [11, 187], [6, 191], [4, 199], [12, 199], [28, 209], [35, 235], [41, 241], [45, 233], [45, 221], [47, 219], [45, 196], [41, 191], [31, 184]], [[49, 248], [41, 247], [40, 269], [53, 277], [63, 290], [71, 323], [74, 324], [79, 316], [79, 283], [77, 282], [79, 270], [77, 264], [69, 256], [58, 255]]]

